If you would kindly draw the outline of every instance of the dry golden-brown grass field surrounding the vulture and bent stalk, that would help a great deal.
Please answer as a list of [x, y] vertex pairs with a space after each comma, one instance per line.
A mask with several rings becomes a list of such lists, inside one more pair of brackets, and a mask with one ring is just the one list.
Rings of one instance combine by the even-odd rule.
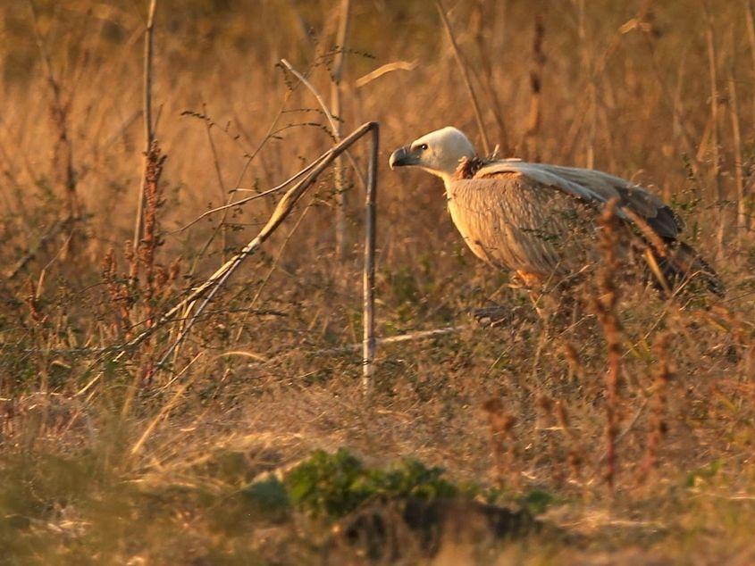
[[[755, 562], [749, 0], [443, 3], [491, 149], [650, 187], [726, 284], [614, 281], [617, 398], [589, 309], [542, 320], [388, 168], [445, 125], [484, 144], [433, 2], [156, 0], [146, 73], [148, 4], [0, 6], [0, 562]], [[365, 137], [160, 365], [190, 312], [161, 315], [282, 192], [203, 213], [366, 121], [377, 337], [453, 330], [379, 344], [363, 395]]]

